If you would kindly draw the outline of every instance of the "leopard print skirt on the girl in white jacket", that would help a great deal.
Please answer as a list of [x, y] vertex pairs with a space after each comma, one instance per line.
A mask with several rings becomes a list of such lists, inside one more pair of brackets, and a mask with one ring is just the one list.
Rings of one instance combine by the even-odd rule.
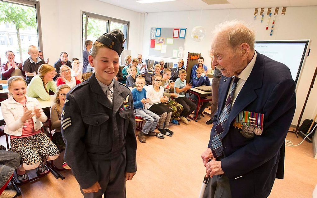
[[48, 156], [59, 155], [58, 148], [44, 133], [40, 132], [30, 137], [10, 139], [10, 151], [21, 155], [21, 163], [45, 165]]

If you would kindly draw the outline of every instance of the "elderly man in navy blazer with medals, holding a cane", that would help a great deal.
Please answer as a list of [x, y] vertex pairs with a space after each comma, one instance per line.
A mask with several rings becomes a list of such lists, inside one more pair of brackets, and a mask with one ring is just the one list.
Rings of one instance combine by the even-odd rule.
[[288, 67], [254, 50], [254, 31], [220, 24], [212, 65], [223, 77], [208, 149], [204, 197], [268, 197], [283, 178], [285, 137], [294, 116], [295, 82]]

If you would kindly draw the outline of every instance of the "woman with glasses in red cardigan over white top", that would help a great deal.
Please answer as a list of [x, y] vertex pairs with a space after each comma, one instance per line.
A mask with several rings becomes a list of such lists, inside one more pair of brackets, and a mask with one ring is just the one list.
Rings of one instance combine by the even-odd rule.
[[77, 79], [77, 76], [71, 76], [70, 72], [71, 68], [67, 65], [62, 65], [60, 69], [60, 77], [57, 78], [56, 86], [60, 86], [63, 84], [66, 84], [70, 86], [70, 88], [73, 88], [77, 84], [81, 83], [79, 79]]

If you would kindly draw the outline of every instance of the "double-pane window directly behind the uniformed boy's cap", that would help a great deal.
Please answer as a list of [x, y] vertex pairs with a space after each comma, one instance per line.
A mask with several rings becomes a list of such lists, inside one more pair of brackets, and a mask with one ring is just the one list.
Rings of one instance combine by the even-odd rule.
[[101, 16], [88, 12], [82, 12], [82, 38], [83, 38], [83, 49], [85, 49], [85, 41], [87, 39], [93, 42], [106, 32], [113, 29], [120, 29], [126, 42], [123, 46], [125, 49], [128, 48], [128, 36], [129, 36], [129, 23], [120, 19], [115, 19], [107, 16]]

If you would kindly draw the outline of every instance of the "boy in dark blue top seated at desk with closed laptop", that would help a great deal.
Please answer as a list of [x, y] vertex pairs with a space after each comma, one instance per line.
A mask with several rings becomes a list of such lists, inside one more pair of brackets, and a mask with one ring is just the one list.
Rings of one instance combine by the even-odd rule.
[[[205, 71], [203, 67], [198, 67], [196, 70], [196, 77], [193, 77], [192, 87], [195, 88], [197, 86], [202, 86], [202, 85], [210, 86], [210, 80], [208, 78], [207, 71]], [[197, 95], [191, 94], [190, 98], [196, 102], [196, 106], [197, 106], [198, 105]], [[202, 97], [201, 99], [206, 99], [206, 98]], [[209, 104], [209, 102], [203, 102], [203, 104], [201, 105], [201, 107], [198, 111], [197, 119], [200, 119], [200, 115], [203, 113], [205, 108], [207, 108], [208, 104]], [[194, 115], [196, 115], [196, 110], [197, 109], [195, 109]]]

